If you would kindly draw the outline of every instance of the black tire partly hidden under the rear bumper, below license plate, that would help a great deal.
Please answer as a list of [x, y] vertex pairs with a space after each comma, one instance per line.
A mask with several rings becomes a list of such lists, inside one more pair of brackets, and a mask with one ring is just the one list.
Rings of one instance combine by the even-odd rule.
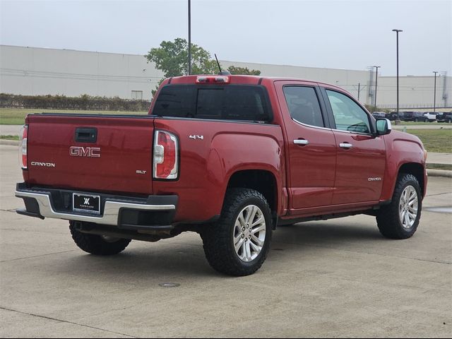
[[97, 256], [112, 256], [118, 254], [119, 252], [124, 251], [131, 242], [130, 239], [107, 241], [101, 235], [82, 233], [76, 230], [73, 221], [69, 222], [69, 230], [71, 230], [72, 239], [78, 248]]

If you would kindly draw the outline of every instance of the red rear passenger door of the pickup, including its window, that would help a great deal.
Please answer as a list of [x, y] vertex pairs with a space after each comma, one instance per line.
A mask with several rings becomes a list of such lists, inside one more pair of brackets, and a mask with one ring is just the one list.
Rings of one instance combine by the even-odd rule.
[[335, 138], [315, 83], [276, 81], [287, 135], [290, 209], [328, 206], [333, 198]]

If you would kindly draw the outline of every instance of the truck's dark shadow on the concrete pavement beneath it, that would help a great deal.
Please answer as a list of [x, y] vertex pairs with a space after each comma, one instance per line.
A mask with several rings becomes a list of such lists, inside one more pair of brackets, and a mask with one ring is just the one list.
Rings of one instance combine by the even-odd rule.
[[[124, 283], [147, 281], [150, 278], [227, 278], [208, 265], [200, 237], [189, 233], [176, 239], [156, 243], [132, 242], [116, 256], [93, 256], [81, 250], [71, 251], [71, 256], [61, 258], [61, 266], [56, 269], [67, 267], [67, 273], [78, 278], [124, 280]], [[278, 227], [273, 233], [268, 258], [273, 257], [271, 261], [278, 265], [278, 261], [284, 261], [286, 256], [306, 258], [313, 251], [319, 254], [319, 247], [353, 249], [356, 246], [362, 249], [367, 244], [379, 246], [380, 242], [385, 241], [376, 226], [307, 222]], [[278, 255], [275, 251], [278, 251]]]

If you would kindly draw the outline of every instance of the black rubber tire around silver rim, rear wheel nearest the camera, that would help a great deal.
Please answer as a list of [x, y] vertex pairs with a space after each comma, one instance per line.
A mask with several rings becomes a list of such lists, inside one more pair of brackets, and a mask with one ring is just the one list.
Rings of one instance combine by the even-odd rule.
[[[252, 261], [242, 261], [234, 248], [235, 222], [247, 206], [257, 206], [266, 222], [265, 240]], [[201, 230], [204, 253], [210, 266], [220, 273], [234, 276], [250, 275], [261, 268], [270, 250], [273, 227], [266, 198], [254, 189], [230, 189], [226, 193], [220, 220]], [[250, 241], [251, 242], [251, 241]]]

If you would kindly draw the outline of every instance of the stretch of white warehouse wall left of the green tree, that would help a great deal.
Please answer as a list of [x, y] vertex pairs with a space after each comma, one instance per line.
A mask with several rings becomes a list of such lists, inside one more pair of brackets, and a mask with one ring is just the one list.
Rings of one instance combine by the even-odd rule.
[[0, 46], [0, 92], [149, 100], [161, 71], [142, 55]]

